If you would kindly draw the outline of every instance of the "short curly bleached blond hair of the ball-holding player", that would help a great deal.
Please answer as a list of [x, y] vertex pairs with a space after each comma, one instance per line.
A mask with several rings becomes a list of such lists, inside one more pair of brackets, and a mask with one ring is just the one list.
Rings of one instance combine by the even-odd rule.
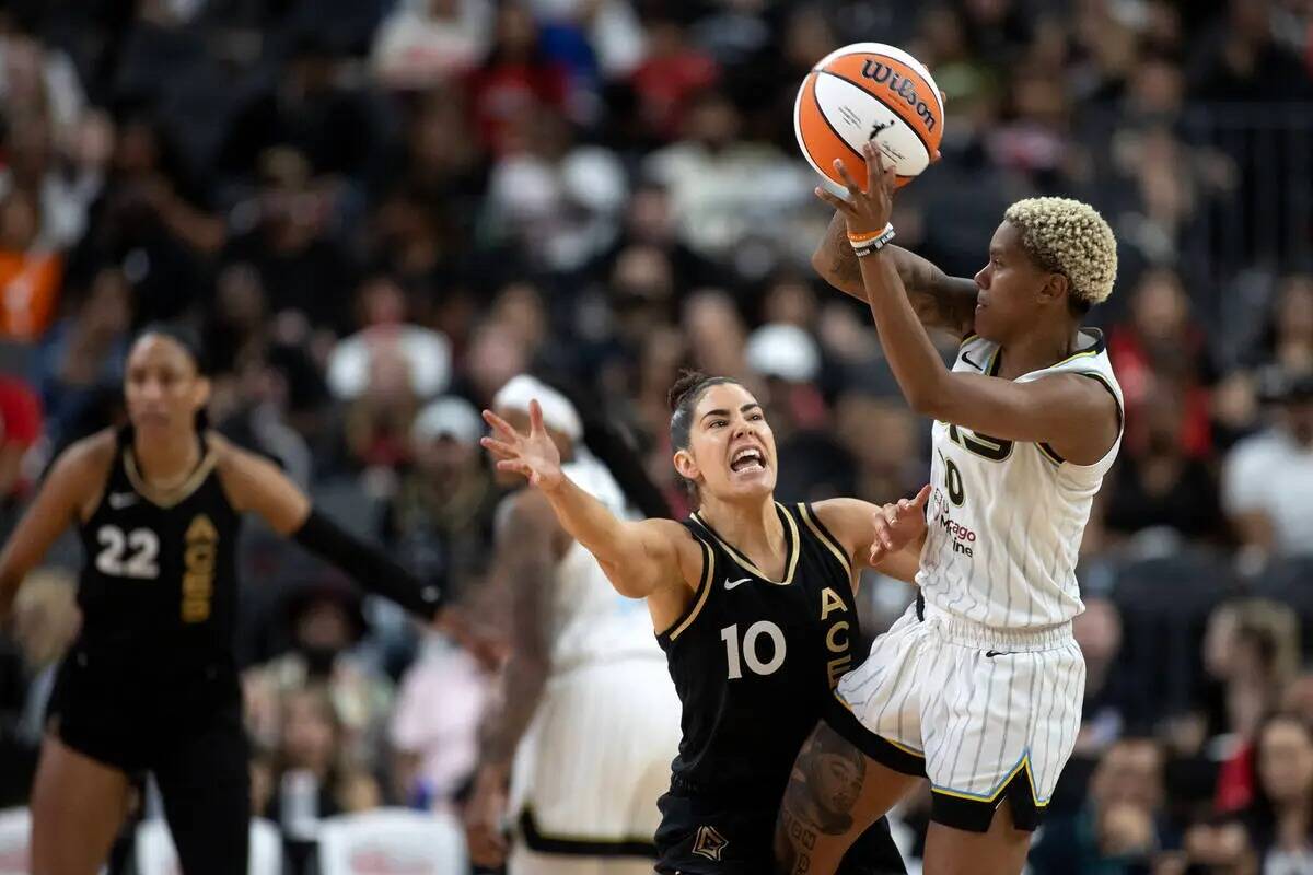
[[1071, 283], [1071, 296], [1088, 308], [1112, 294], [1117, 241], [1103, 216], [1070, 198], [1027, 198], [1007, 207], [1003, 220], [1022, 231], [1022, 247], [1041, 269]]

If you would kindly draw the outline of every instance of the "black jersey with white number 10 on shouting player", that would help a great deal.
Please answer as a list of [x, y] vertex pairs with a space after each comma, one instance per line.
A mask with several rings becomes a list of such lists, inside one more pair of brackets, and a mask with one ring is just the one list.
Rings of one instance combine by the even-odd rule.
[[696, 513], [705, 568], [692, 605], [658, 636], [683, 703], [671, 792], [779, 800], [860, 639], [848, 556], [810, 505], [776, 504], [784, 579], [769, 580]]

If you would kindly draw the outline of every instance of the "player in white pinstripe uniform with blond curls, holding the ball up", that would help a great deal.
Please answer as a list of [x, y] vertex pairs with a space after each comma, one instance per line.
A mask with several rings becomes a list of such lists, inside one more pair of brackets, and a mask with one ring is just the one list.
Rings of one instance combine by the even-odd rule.
[[[869, 192], [846, 173], [848, 201], [817, 192], [839, 215], [814, 262], [871, 304], [898, 386], [935, 420], [924, 517], [903, 501], [876, 525], [877, 548], [923, 539], [920, 593], [804, 746], [780, 871], [830, 875], [928, 777], [927, 875], [1020, 872], [1081, 723], [1077, 552], [1123, 403], [1102, 335], [1079, 323], [1112, 291], [1116, 243], [1085, 203], [1020, 201], [974, 282], [949, 278], [884, 245], [895, 180], [869, 143], [865, 157]], [[952, 370], [923, 323], [962, 338]], [[853, 760], [850, 781], [827, 773]], [[836, 808], [850, 819], [815, 813]]]

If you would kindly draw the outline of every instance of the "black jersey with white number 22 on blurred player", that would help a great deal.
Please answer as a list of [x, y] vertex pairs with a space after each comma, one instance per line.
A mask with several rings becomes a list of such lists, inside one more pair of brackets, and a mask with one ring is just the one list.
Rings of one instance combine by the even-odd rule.
[[104, 495], [81, 525], [79, 652], [127, 677], [232, 670], [240, 514], [214, 450], [200, 437], [201, 462], [165, 495], [140, 476], [131, 429], [117, 441]]

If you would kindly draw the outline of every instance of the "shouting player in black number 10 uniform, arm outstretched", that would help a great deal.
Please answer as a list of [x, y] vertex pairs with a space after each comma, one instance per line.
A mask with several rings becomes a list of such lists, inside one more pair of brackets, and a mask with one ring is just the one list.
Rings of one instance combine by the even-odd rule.
[[[616, 590], [647, 600], [683, 704], [656, 871], [760, 875], [793, 758], [853, 662], [876, 508], [777, 504], [771, 428], [731, 379], [687, 374], [671, 407], [675, 468], [699, 504], [683, 522], [617, 518], [572, 483], [537, 404], [528, 434], [486, 411], [496, 437], [484, 446], [537, 487]], [[910, 580], [915, 561], [894, 554], [881, 569]], [[865, 830], [843, 871], [903, 871], [886, 824]]]

